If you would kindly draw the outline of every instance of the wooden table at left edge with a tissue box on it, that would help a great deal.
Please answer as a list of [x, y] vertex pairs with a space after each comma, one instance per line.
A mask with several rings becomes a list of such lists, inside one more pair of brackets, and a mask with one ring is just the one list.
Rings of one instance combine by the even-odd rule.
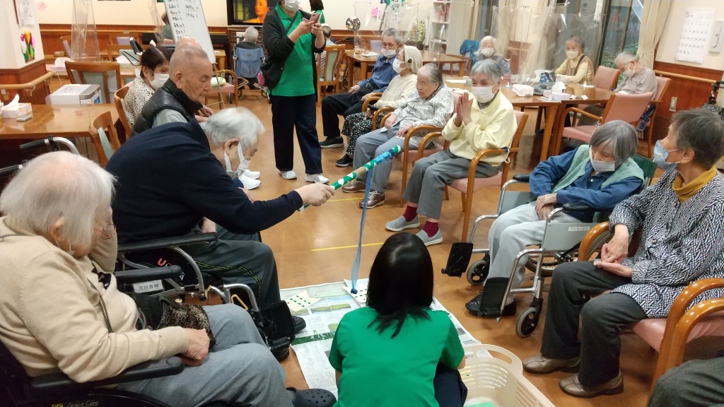
[[111, 112], [114, 121], [118, 119], [113, 104], [34, 104], [33, 118], [27, 122], [2, 119], [0, 140], [39, 139], [49, 135], [65, 138], [88, 137], [90, 122], [105, 112]]

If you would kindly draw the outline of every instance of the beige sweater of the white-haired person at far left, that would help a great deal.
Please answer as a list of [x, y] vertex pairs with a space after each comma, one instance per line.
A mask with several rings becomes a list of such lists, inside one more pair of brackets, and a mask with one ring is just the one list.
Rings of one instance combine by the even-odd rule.
[[[0, 239], [0, 340], [30, 376], [62, 371], [87, 382], [188, 350], [183, 328], [136, 330], [135, 302], [119, 292], [115, 277], [104, 289], [88, 256], [75, 259], [33, 232], [11, 229], [1, 217], [0, 235], [13, 234], [20, 236]], [[115, 239], [101, 240], [91, 256], [98, 269], [109, 270], [116, 253]]]

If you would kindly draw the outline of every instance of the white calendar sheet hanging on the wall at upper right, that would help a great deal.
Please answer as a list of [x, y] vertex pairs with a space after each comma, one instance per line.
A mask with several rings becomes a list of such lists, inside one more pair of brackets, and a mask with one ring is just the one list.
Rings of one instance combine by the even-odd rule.
[[696, 64], [704, 62], [714, 22], [714, 12], [715, 9], [686, 9], [674, 59]]

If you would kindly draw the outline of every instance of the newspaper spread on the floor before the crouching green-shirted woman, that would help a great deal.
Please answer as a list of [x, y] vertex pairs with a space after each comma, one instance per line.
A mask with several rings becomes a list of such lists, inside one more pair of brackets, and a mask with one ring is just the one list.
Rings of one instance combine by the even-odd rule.
[[[362, 290], [367, 288], [368, 279], [357, 281], [355, 288]], [[329, 351], [332, 348], [332, 339], [342, 316], [349, 311], [361, 308], [362, 299], [353, 298], [346, 289], [349, 289], [352, 282], [334, 282], [329, 284], [310, 285], [308, 287], [290, 288], [281, 290], [282, 300], [291, 298], [307, 292], [309, 298], [316, 300], [310, 306], [292, 311], [292, 315], [300, 316], [306, 321], [306, 327], [298, 332], [292, 349], [297, 355], [300, 369], [304, 375], [307, 385], [311, 388], [329, 390], [337, 396], [337, 381], [334, 377], [334, 369], [329, 365]], [[476, 340], [470, 332], [460, 324], [457, 318], [445, 309], [436, 299], [433, 298], [430, 308], [436, 311], [445, 311], [450, 316], [455, 330], [458, 331], [460, 342], [463, 346], [477, 345]]]

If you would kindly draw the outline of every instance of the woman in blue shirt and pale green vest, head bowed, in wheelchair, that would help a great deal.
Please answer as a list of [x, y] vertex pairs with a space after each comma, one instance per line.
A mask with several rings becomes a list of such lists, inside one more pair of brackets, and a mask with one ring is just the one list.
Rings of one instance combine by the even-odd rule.
[[[526, 246], [542, 243], [549, 222], [592, 222], [600, 212], [610, 211], [640, 190], [644, 173], [632, 159], [637, 143], [633, 127], [617, 120], [599, 127], [592, 135], [590, 146], [578, 147], [538, 164], [527, 177], [535, 200], [500, 214], [490, 227], [489, 251], [484, 258], [489, 264], [487, 280], [481, 294], [468, 302], [466, 309], [487, 318], [514, 315], [515, 301], [512, 295], [506, 294], [511, 287], [521, 284], [525, 274], [528, 256], [519, 253]], [[526, 181], [519, 176], [516, 180]], [[564, 204], [573, 203], [585, 204], [585, 210], [571, 211], [565, 207], [554, 212]], [[502, 306], [504, 297], [507, 301]]]

